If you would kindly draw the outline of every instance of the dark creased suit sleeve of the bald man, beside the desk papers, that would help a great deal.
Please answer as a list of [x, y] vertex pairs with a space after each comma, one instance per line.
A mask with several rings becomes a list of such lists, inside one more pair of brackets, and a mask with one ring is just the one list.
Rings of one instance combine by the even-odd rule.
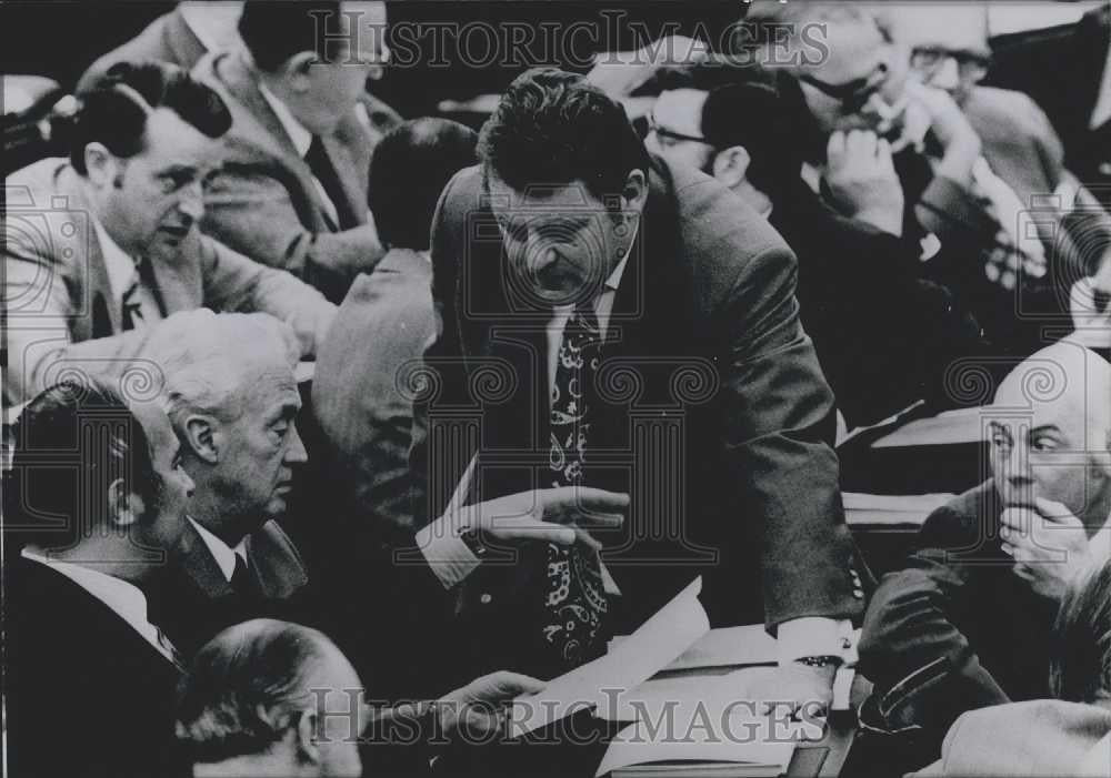
[[955, 626], [975, 590], [971, 568], [945, 559], [960, 521], [947, 507], [927, 519], [929, 547], [884, 576], [864, 617], [860, 668], [887, 726], [943, 731], [963, 710], [1009, 701]]

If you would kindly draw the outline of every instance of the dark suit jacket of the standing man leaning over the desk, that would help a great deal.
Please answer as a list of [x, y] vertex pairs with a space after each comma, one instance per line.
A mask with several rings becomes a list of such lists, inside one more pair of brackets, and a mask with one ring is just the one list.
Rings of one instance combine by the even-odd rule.
[[[621, 531], [599, 534], [624, 595], [615, 628], [695, 574], [718, 624], [851, 617], [862, 602], [830, 447], [832, 395], [799, 325], [794, 256], [718, 182], [655, 165], [609, 324], [585, 478], [632, 498]], [[476, 452], [473, 501], [550, 479], [551, 310], [514, 299], [480, 189], [478, 169], [460, 172], [434, 220], [443, 335], [426, 355], [441, 376], [420, 405], [428, 434], [414, 438], [414, 477], [428, 485], [419, 523], [440, 515]], [[522, 619], [542, 570], [488, 560], [461, 587], [480, 664], [528, 669], [526, 634], [539, 629]]]

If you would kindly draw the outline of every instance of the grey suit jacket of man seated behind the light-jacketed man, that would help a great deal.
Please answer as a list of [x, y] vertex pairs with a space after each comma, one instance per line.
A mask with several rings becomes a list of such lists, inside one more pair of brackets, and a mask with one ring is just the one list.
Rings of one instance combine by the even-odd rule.
[[[258, 75], [234, 52], [213, 52], [193, 69], [228, 103], [232, 127], [222, 139], [224, 169], [206, 198], [204, 231], [258, 262], [288, 270], [342, 300], [359, 272], [383, 250], [366, 231], [340, 230], [321, 201], [312, 171], [259, 91]], [[344, 198], [342, 222], [366, 225], [370, 156], [399, 119], [369, 94], [368, 119], [352, 111], [322, 139]], [[376, 123], [377, 122], [377, 123]]]

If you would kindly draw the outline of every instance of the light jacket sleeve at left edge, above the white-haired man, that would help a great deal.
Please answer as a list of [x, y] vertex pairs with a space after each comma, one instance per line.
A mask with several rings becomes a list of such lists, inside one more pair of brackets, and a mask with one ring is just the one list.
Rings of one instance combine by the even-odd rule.
[[[12, 403], [31, 400], [64, 377], [121, 375], [142, 347], [140, 332], [73, 343], [69, 319], [92, 316], [74, 306], [73, 275], [83, 271], [39, 250], [19, 231], [4, 230], [4, 394]], [[82, 301], [91, 304], [92, 301]]]

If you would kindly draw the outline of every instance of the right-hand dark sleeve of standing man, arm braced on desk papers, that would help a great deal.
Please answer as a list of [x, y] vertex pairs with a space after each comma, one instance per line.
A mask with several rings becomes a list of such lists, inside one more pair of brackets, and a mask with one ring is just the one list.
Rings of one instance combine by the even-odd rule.
[[724, 319], [724, 446], [740, 505], [760, 517], [769, 630], [802, 617], [851, 618], [854, 547], [838, 485], [833, 395], [799, 324], [794, 255], [781, 243], [744, 265]]

